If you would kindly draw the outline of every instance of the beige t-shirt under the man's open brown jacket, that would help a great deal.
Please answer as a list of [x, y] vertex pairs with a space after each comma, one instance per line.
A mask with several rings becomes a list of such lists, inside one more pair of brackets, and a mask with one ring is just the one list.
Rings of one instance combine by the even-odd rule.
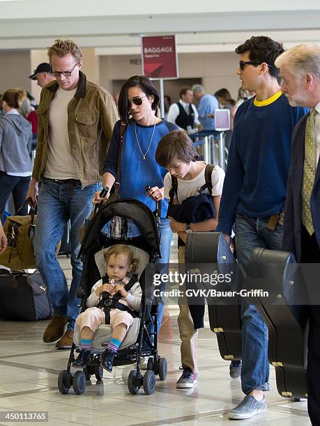
[[50, 179], [79, 179], [68, 136], [68, 104], [77, 88], [58, 88], [49, 107], [49, 138], [44, 176]]

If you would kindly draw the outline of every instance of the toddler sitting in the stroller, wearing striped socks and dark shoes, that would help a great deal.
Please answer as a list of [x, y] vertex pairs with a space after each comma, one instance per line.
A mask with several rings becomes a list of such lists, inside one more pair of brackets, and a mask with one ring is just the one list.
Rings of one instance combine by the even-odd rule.
[[86, 365], [94, 333], [100, 324], [110, 324], [112, 336], [101, 356], [101, 365], [111, 372], [114, 354], [132, 325], [133, 317], [139, 316], [142, 290], [137, 279], [128, 276], [138, 265], [130, 246], [116, 244], [104, 253], [104, 258], [107, 276], [93, 285], [91, 295], [86, 301], [88, 309], [76, 319], [82, 350], [73, 366]]

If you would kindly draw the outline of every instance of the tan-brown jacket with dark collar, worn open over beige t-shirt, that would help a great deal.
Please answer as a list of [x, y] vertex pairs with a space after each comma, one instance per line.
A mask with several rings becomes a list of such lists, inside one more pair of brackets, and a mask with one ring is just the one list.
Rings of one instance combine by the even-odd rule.
[[[52, 81], [41, 91], [38, 114], [38, 141], [32, 177], [40, 180], [47, 164], [49, 105], [59, 85]], [[75, 97], [68, 104], [68, 134], [71, 155], [83, 186], [100, 182], [114, 124], [118, 120], [112, 96], [79, 72]]]

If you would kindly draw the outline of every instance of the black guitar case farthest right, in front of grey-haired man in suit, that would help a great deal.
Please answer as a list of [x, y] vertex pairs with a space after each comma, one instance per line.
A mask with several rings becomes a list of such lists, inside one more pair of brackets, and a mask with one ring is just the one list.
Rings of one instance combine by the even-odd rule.
[[294, 255], [256, 248], [245, 285], [269, 294], [253, 303], [268, 326], [268, 358], [275, 367], [278, 392], [307, 397], [307, 306], [290, 305], [305, 295]]

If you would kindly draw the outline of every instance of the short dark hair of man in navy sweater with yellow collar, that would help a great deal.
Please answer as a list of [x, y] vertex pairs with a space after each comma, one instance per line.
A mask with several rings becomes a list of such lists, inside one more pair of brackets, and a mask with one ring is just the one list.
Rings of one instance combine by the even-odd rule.
[[269, 74], [276, 79], [279, 78], [280, 70], [275, 66], [276, 58], [284, 52], [284, 47], [281, 43], [275, 42], [267, 36], [257, 36], [245, 40], [243, 45], [236, 48], [238, 55], [249, 52], [250, 61], [263, 63], [266, 62], [269, 69]]

